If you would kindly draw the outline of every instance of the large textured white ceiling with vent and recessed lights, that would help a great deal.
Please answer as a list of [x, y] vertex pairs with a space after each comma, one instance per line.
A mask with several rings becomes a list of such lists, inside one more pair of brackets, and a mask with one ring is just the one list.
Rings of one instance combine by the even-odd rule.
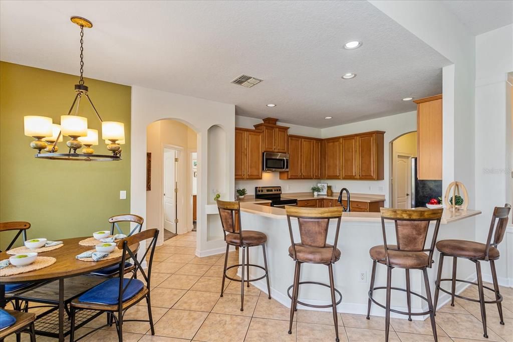
[[[450, 64], [366, 1], [2, 1], [0, 59], [77, 74], [71, 15], [94, 24], [85, 32], [89, 78], [310, 127], [415, 110], [401, 99], [440, 93], [441, 68]], [[363, 46], [343, 49], [353, 39]], [[357, 77], [342, 80], [346, 72]], [[264, 81], [230, 84], [243, 73]]]

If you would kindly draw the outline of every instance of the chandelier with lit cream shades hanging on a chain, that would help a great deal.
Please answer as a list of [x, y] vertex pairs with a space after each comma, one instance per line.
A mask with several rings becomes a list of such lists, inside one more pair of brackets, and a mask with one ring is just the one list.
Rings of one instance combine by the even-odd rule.
[[[84, 28], [93, 24], [80, 16], [72, 16], [71, 22], [80, 26], [80, 81], [75, 84], [75, 99], [67, 115], [61, 116], [61, 124], [54, 124], [51, 118], [41, 116], [24, 117], [25, 135], [35, 140], [30, 147], [37, 149], [36, 158], [53, 160], [113, 161], [121, 160], [121, 144], [125, 143], [125, 125], [122, 122], [103, 121], [89, 97], [89, 88], [84, 84]], [[98, 145], [98, 130], [87, 128], [87, 118], [78, 116], [80, 101], [85, 98], [102, 123], [102, 140], [112, 155], [98, 155], [91, 146]], [[74, 113], [73, 108], [75, 108]], [[71, 138], [66, 142], [68, 153], [57, 153], [57, 142], [63, 136]], [[77, 149], [82, 148], [80, 153]], [[42, 151], [45, 151], [42, 153]]]

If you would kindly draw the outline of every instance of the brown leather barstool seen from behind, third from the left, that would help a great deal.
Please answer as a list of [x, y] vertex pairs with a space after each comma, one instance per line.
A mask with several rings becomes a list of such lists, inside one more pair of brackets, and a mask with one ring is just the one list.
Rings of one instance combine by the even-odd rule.
[[[442, 218], [443, 209], [393, 209], [381, 208], [381, 226], [383, 230], [383, 244], [374, 246], [369, 250], [372, 258], [372, 274], [370, 278], [369, 301], [367, 307], [367, 319], [370, 319], [370, 305], [375, 303], [385, 309], [385, 340], [388, 341], [388, 332], [390, 330], [390, 312], [411, 316], [427, 315], [431, 319], [431, 329], [435, 341], [437, 338], [437, 327], [435, 324], [435, 311], [431, 301], [431, 292], [429, 289], [429, 280], [427, 277], [427, 268], [431, 267], [435, 242], [437, 241], [438, 229]], [[385, 220], [392, 220], [395, 223], [395, 232], [397, 244], [387, 244], [385, 232]], [[429, 223], [436, 222], [435, 230], [431, 239], [429, 248], [426, 248], [427, 233]], [[426, 252], [428, 252], [426, 254]], [[387, 267], [386, 287], [374, 287], [376, 277], [376, 264], [381, 263]], [[392, 287], [392, 269], [400, 268], [406, 272], [406, 289]], [[426, 287], [426, 297], [410, 291], [410, 270], [422, 270], [424, 275], [424, 285]], [[386, 289], [386, 305], [377, 302], [372, 295], [376, 290]], [[406, 292], [408, 312], [390, 309], [391, 290]], [[410, 295], [415, 295], [427, 301], [429, 310], [426, 312], [411, 312]]]

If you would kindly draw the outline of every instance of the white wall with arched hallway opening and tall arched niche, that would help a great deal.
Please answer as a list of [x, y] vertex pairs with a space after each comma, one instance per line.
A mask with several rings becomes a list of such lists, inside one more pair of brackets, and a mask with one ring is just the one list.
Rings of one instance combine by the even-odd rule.
[[[207, 155], [211, 146], [207, 143], [207, 131], [213, 125], [219, 125], [226, 132], [226, 141], [234, 141], [235, 106], [215, 101], [193, 98], [148, 89], [132, 87], [132, 155], [131, 155], [131, 195], [130, 203], [133, 214], [146, 217], [146, 128], [154, 121], [173, 119], [189, 125], [198, 133], [198, 238], [197, 255], [224, 252], [223, 239], [207, 241], [207, 212], [215, 213], [207, 203]], [[212, 146], [215, 148], [215, 146]], [[228, 198], [234, 194], [234, 146], [226, 144], [225, 188]], [[219, 216], [219, 215], [218, 215]]]

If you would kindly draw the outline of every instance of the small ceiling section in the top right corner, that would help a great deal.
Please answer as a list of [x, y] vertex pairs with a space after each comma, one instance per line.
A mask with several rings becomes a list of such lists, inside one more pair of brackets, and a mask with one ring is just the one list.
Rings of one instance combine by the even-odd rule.
[[459, 20], [478, 35], [513, 23], [511, 0], [444, 0]]

